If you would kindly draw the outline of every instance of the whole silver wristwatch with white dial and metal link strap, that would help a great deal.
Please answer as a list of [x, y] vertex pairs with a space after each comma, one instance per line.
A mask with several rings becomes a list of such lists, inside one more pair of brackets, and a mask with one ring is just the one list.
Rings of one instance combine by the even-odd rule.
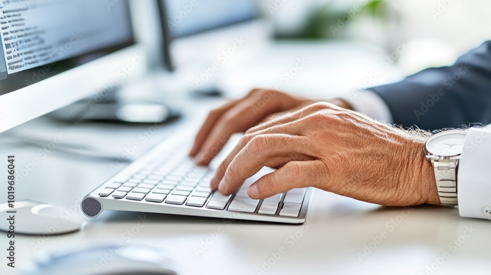
[[435, 169], [441, 206], [457, 206], [457, 170], [464, 149], [466, 130], [449, 130], [428, 139], [425, 155]]

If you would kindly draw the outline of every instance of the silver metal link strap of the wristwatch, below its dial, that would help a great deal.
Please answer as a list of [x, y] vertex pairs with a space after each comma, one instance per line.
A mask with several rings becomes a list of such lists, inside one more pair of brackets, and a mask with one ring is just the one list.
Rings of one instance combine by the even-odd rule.
[[441, 206], [457, 206], [457, 164], [459, 160], [432, 160]]

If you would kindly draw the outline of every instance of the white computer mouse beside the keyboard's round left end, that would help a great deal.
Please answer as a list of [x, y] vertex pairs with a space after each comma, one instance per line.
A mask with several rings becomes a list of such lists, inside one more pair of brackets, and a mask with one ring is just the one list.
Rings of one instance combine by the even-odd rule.
[[35, 235], [72, 232], [83, 223], [78, 213], [35, 200], [0, 204], [0, 220], [2, 231]]

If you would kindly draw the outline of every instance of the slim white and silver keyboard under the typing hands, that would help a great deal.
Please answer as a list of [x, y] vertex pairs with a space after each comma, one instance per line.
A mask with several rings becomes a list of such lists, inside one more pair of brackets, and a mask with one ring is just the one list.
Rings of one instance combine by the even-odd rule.
[[[181, 145], [179, 145], [181, 144]], [[251, 199], [247, 187], [260, 171], [234, 194], [213, 192], [215, 171], [197, 166], [179, 138], [165, 139], [143, 157], [123, 168], [81, 202], [82, 212], [95, 218], [104, 210], [164, 213], [231, 220], [303, 223], [311, 188], [293, 189], [266, 199]]]

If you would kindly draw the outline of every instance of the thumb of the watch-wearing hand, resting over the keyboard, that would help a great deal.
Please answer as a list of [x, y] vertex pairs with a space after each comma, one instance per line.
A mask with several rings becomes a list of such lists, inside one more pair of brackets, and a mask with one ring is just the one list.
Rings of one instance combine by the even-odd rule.
[[253, 199], [262, 199], [294, 188], [320, 186], [323, 184], [324, 164], [322, 161], [295, 161], [285, 164], [278, 170], [262, 176], [247, 189]]

